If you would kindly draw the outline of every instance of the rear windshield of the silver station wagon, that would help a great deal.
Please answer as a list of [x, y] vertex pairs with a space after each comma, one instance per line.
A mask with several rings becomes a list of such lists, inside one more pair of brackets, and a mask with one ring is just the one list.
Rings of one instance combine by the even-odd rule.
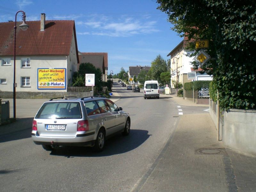
[[80, 119], [82, 118], [78, 102], [44, 103], [36, 114], [36, 119]]

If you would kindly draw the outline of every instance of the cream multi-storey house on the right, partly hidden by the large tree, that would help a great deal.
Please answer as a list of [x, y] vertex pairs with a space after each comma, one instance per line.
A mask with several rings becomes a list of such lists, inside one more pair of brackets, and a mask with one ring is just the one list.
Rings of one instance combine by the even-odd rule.
[[[184, 85], [184, 83], [190, 82], [192, 80], [188, 79], [188, 73], [196, 72], [193, 69], [191, 62], [193, 61], [193, 57], [188, 57], [187, 54], [191, 54], [193, 52], [188, 51], [186, 49], [186, 44], [193, 40], [188, 40], [188, 37], [185, 36], [184, 40], [182, 40], [168, 55], [171, 57], [171, 80], [175, 82], [180, 82]], [[201, 70], [201, 69], [199, 69]], [[202, 74], [196, 72], [195, 80], [212, 80], [212, 76], [209, 76], [205, 73]], [[174, 85], [171, 83], [171, 87], [174, 88]]]

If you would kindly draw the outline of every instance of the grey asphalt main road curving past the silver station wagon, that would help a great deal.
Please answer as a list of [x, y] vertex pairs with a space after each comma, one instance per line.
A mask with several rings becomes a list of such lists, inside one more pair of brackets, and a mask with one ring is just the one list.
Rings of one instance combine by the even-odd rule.
[[179, 111], [169, 96], [144, 100], [143, 92], [117, 83], [113, 89], [121, 96], [116, 104], [130, 113], [129, 136], [111, 138], [100, 153], [85, 147], [45, 151], [30, 129], [1, 136], [1, 191], [131, 191], [172, 134]]

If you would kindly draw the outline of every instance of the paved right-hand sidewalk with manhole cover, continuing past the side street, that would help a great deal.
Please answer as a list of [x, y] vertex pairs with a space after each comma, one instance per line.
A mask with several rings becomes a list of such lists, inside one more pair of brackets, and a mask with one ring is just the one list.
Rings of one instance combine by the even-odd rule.
[[[168, 96], [181, 106], [199, 106]], [[256, 157], [225, 148], [216, 138], [209, 114], [180, 116], [171, 137], [133, 192], [255, 192]]]

